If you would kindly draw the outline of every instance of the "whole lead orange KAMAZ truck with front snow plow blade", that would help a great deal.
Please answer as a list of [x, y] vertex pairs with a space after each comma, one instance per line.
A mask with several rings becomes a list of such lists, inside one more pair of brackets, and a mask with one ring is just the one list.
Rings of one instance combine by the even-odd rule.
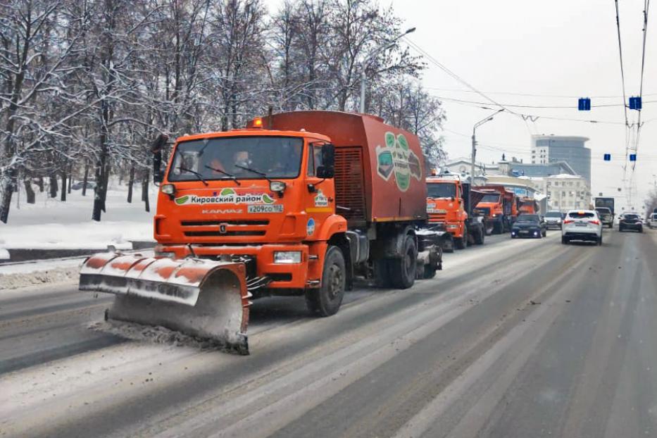
[[299, 111], [180, 137], [161, 182], [155, 257], [87, 259], [80, 289], [107, 318], [162, 325], [248, 354], [251, 299], [305, 296], [336, 313], [354, 277], [406, 289], [442, 268], [417, 137], [372, 115]]

